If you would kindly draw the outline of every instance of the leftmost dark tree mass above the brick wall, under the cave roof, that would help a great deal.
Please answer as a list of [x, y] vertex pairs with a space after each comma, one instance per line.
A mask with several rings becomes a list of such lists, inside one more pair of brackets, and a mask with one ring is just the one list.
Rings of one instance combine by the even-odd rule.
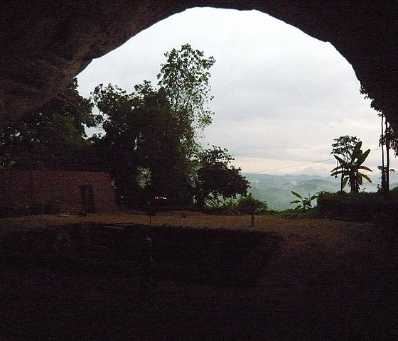
[[0, 165], [3, 168], [80, 168], [82, 148], [87, 146], [86, 126], [100, 117], [92, 114], [92, 102], [80, 96], [77, 80], [42, 107], [0, 130]]

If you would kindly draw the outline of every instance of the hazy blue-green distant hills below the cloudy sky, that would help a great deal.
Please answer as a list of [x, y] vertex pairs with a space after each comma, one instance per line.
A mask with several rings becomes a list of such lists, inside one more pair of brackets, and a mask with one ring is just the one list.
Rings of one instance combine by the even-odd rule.
[[[259, 200], [267, 202], [271, 210], [286, 210], [287, 208], [294, 208], [296, 205], [291, 204], [295, 197], [291, 191], [300, 193], [304, 197], [326, 191], [337, 192], [340, 190], [340, 179], [334, 177], [326, 177], [320, 175], [306, 175], [306, 174], [286, 174], [286, 175], [270, 175], [270, 174], [244, 174], [249, 180], [251, 188], [249, 192]], [[372, 176], [372, 183], [364, 182], [361, 188], [365, 188], [366, 192], [376, 192], [377, 184], [380, 183], [379, 175]], [[391, 173], [390, 188], [398, 186], [398, 174]], [[345, 190], [349, 191], [347, 187]]]

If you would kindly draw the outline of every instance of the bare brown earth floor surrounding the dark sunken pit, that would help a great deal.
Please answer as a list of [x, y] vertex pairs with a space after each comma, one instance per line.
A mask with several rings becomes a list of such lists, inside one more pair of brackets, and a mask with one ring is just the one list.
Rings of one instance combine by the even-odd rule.
[[[149, 224], [149, 216], [20, 217], [0, 220], [0, 231], [84, 222]], [[195, 212], [158, 214], [151, 224], [250, 229], [249, 217]], [[394, 233], [378, 224], [269, 216], [257, 217], [256, 230], [281, 241], [252, 286], [168, 278], [142, 296], [123, 267], [3, 260], [0, 340], [398, 340]]]

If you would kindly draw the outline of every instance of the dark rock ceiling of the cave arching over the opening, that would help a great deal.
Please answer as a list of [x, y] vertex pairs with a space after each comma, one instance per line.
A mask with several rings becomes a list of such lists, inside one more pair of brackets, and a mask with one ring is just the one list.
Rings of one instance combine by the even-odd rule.
[[195, 6], [257, 9], [330, 41], [398, 130], [398, 6], [345, 0], [4, 0], [0, 125], [48, 101], [92, 59]]

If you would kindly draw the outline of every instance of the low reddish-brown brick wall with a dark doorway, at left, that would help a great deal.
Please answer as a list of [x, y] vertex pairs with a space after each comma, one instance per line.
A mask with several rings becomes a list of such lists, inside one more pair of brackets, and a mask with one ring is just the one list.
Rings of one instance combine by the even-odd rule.
[[78, 212], [82, 207], [81, 186], [92, 186], [96, 212], [116, 210], [108, 173], [68, 171], [0, 171], [0, 205], [44, 205], [54, 212]]

